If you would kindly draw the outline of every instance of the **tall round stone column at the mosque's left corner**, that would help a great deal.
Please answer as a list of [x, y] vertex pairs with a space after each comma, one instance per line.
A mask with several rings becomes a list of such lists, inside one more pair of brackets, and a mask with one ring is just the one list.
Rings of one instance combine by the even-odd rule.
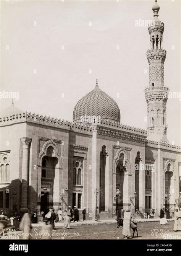
[[27, 195], [29, 185], [29, 143], [31, 138], [20, 138], [23, 143], [23, 161], [22, 161], [22, 184], [21, 184], [21, 208], [20, 212], [29, 212], [27, 208]]

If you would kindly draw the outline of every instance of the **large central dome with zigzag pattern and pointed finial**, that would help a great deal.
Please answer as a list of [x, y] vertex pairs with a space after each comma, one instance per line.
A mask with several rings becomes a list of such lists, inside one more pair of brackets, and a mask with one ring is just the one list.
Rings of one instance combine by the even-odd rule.
[[114, 99], [99, 89], [96, 82], [94, 90], [81, 98], [74, 107], [73, 122], [82, 122], [84, 116], [100, 116], [109, 121], [120, 122], [120, 109]]

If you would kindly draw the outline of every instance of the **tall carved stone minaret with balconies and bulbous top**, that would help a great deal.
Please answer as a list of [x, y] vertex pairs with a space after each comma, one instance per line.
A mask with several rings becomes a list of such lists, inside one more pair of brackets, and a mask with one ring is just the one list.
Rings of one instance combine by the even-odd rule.
[[150, 50], [146, 52], [149, 62], [149, 87], [144, 90], [147, 101], [147, 139], [168, 141], [166, 137], [166, 101], [169, 89], [164, 86], [166, 51], [162, 48], [164, 23], [158, 19], [160, 7], [157, 0], [155, 0], [152, 10], [154, 20], [148, 28]]

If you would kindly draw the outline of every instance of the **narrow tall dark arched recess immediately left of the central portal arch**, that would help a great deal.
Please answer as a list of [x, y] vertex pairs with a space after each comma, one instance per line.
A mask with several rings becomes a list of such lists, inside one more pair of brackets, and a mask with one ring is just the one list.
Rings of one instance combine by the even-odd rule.
[[105, 211], [105, 184], [106, 184], [106, 170], [108, 169], [108, 152], [105, 145], [102, 146], [100, 152], [100, 167], [99, 167], [99, 207], [101, 211]]

